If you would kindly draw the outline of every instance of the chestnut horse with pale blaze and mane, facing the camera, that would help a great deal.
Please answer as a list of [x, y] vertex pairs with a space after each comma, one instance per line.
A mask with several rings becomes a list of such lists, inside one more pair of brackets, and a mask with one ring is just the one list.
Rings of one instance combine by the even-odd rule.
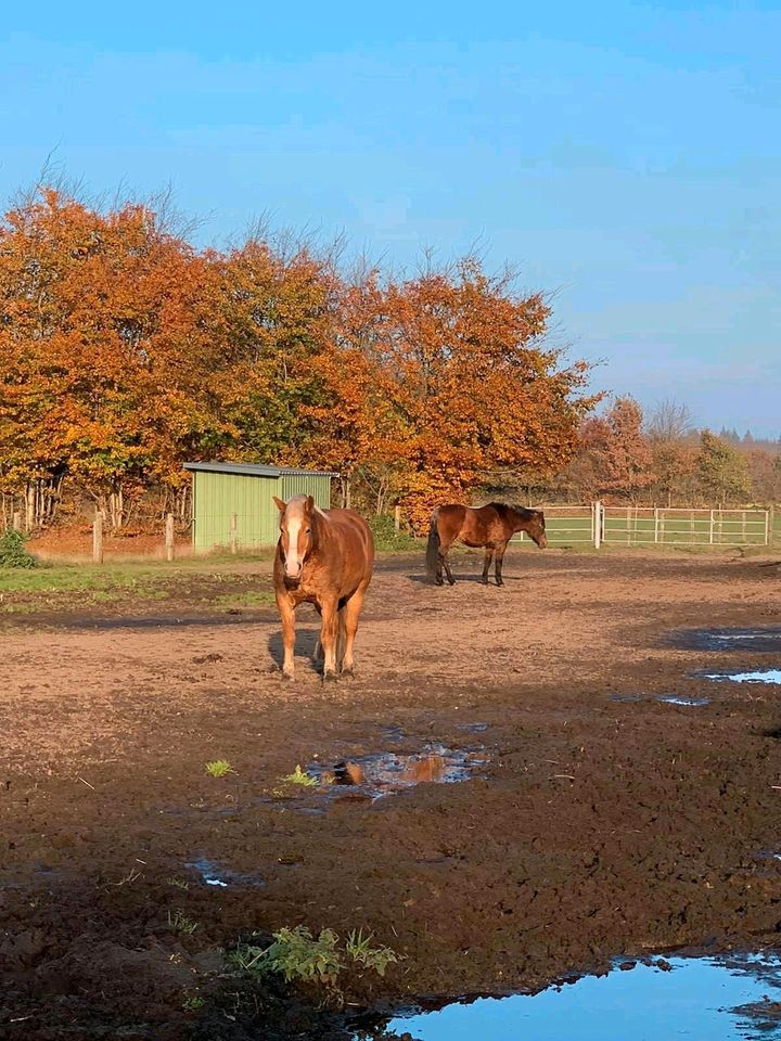
[[282, 502], [273, 584], [282, 619], [282, 674], [294, 676], [295, 609], [315, 604], [322, 617], [316, 657], [324, 657], [323, 680], [340, 671], [353, 676], [353, 643], [371, 581], [374, 540], [363, 517], [351, 510], [319, 510], [311, 496]]

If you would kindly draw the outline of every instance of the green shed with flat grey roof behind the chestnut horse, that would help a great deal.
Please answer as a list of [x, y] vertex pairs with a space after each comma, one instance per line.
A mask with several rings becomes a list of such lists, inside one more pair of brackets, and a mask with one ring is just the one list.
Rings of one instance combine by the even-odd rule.
[[323, 510], [331, 505], [334, 474], [322, 471], [254, 463], [184, 463], [184, 470], [193, 477], [192, 538], [196, 552], [233, 543], [273, 544], [279, 538], [273, 496], [285, 502], [293, 496], [311, 496]]

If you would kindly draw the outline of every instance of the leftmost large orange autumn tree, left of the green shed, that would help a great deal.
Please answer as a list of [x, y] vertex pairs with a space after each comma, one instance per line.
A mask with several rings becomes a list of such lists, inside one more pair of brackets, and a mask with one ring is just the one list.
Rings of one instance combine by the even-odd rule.
[[[42, 190], [0, 228], [0, 447], [7, 483], [69, 476], [115, 527], [204, 425], [204, 265], [145, 206]], [[46, 513], [43, 513], [43, 517]]]

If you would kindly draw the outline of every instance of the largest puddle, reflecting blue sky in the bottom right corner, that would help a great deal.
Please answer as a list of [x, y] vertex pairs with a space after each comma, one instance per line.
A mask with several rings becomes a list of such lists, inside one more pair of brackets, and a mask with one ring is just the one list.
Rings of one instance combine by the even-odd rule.
[[538, 994], [453, 1002], [393, 1018], [386, 1030], [418, 1041], [772, 1041], [780, 1001], [781, 958], [671, 958]]

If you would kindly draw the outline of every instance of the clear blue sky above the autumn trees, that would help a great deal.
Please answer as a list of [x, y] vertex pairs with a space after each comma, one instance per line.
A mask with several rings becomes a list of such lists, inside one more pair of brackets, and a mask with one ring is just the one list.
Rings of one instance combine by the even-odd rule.
[[0, 194], [47, 155], [384, 262], [475, 242], [646, 407], [778, 436], [781, 0], [4, 11]]

